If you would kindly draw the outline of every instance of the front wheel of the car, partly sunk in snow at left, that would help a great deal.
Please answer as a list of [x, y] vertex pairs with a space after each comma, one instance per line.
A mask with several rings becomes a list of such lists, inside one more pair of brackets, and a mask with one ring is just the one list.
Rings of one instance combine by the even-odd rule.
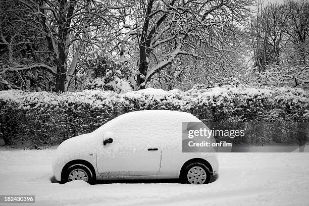
[[92, 184], [94, 182], [94, 176], [91, 170], [82, 164], [74, 164], [70, 166], [65, 173], [64, 183], [71, 182], [73, 180], [83, 180]]

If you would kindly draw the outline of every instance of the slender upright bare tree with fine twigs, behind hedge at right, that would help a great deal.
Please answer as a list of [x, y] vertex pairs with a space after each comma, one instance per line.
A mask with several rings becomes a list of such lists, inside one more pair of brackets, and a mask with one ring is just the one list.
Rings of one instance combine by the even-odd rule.
[[286, 26], [284, 6], [269, 4], [263, 7], [259, 1], [256, 17], [252, 16], [250, 22], [253, 62], [259, 73], [268, 65], [279, 65], [280, 54], [286, 46]]

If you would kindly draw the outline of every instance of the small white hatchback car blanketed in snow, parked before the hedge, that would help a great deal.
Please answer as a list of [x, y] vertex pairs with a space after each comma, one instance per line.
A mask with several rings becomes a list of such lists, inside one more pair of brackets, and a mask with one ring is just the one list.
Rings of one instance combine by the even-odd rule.
[[178, 179], [209, 183], [218, 173], [215, 152], [182, 152], [183, 123], [196, 117], [176, 111], [123, 114], [95, 131], [62, 142], [55, 153], [57, 181]]

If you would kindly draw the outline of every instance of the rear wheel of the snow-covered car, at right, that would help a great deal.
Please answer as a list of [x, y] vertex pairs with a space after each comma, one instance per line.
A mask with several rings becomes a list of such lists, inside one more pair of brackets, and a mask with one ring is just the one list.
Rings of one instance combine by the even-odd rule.
[[182, 182], [187, 184], [208, 184], [211, 174], [209, 169], [202, 163], [191, 163], [184, 168]]

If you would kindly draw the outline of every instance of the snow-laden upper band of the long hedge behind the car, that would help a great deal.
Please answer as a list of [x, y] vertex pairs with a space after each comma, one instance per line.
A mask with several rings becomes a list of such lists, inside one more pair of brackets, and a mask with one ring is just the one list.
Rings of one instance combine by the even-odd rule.
[[[132, 110], [146, 109], [176, 109], [188, 111], [194, 109], [215, 109], [234, 111], [247, 109], [245, 114], [256, 110], [271, 112], [280, 109], [281, 112], [295, 112], [295, 118], [308, 108], [308, 91], [301, 88], [265, 87], [246, 88], [225, 86], [196, 85], [188, 91], [178, 89], [165, 91], [163, 89], [147, 88], [138, 91], [118, 93], [114, 91], [84, 90], [81, 92], [25, 92], [20, 90], [0, 91], [0, 99], [18, 104], [21, 109], [50, 108], [114, 108], [126, 107]], [[240, 111], [237, 113], [239, 114]], [[243, 115], [245, 115], [243, 114]], [[270, 116], [271, 117], [270, 113]], [[265, 113], [263, 114], [265, 116]]]

